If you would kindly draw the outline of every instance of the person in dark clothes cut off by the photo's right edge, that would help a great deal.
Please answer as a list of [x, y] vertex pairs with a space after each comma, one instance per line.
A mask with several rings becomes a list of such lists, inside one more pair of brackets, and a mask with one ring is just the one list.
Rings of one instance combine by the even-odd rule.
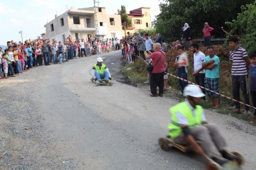
[[[253, 102], [253, 107], [256, 107], [256, 51], [251, 52], [249, 58], [251, 60], [249, 66], [251, 101]], [[250, 118], [256, 119], [256, 109], [254, 109], [254, 114]]]

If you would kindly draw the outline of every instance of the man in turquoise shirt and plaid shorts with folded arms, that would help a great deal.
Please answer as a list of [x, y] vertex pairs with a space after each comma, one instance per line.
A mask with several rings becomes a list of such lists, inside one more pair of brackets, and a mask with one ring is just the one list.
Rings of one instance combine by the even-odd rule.
[[[205, 88], [213, 90], [219, 93], [219, 69], [220, 69], [220, 59], [215, 55], [215, 50], [213, 47], [207, 48], [207, 56], [204, 59], [202, 69], [205, 69]], [[201, 70], [201, 69], [200, 69]], [[215, 109], [220, 108], [220, 94], [216, 94], [211, 91], [206, 91], [207, 96], [209, 96], [211, 103], [210, 105], [214, 106]], [[215, 103], [216, 101], [216, 103]]]

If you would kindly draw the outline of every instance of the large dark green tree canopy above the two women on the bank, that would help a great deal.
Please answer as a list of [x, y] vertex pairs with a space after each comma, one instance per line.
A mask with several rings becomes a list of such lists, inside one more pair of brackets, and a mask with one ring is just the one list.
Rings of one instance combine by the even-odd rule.
[[224, 37], [221, 27], [226, 21], [232, 21], [241, 12], [240, 6], [253, 3], [253, 0], [166, 0], [160, 4], [160, 14], [154, 25], [164, 40], [173, 41], [181, 38], [184, 23], [189, 23], [192, 36], [203, 37], [204, 23], [215, 28], [213, 36]]

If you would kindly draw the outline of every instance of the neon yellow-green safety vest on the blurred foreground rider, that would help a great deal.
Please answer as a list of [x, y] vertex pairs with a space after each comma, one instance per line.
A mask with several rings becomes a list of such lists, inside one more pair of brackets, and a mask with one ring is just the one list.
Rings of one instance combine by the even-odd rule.
[[202, 123], [203, 108], [200, 105], [196, 105], [195, 115], [193, 115], [191, 108], [189, 107], [189, 105], [187, 105], [185, 101], [179, 103], [178, 105], [174, 105], [174, 107], [171, 107], [169, 111], [172, 116], [170, 118], [168, 129], [170, 138], [172, 139], [177, 138], [182, 132], [182, 129], [176, 117], [177, 112], [180, 112], [187, 118], [189, 122], [189, 127], [198, 127], [198, 125]]

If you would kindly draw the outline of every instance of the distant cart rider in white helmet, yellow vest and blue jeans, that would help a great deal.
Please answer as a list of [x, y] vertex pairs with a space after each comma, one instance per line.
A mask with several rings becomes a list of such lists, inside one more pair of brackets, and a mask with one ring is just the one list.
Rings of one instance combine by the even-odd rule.
[[93, 66], [93, 69], [91, 70], [91, 75], [93, 76], [93, 79], [96, 81], [99, 81], [102, 83], [102, 81], [105, 81], [108, 83], [111, 80], [110, 72], [108, 70], [108, 67], [104, 65], [102, 58], [97, 58], [97, 64]]

